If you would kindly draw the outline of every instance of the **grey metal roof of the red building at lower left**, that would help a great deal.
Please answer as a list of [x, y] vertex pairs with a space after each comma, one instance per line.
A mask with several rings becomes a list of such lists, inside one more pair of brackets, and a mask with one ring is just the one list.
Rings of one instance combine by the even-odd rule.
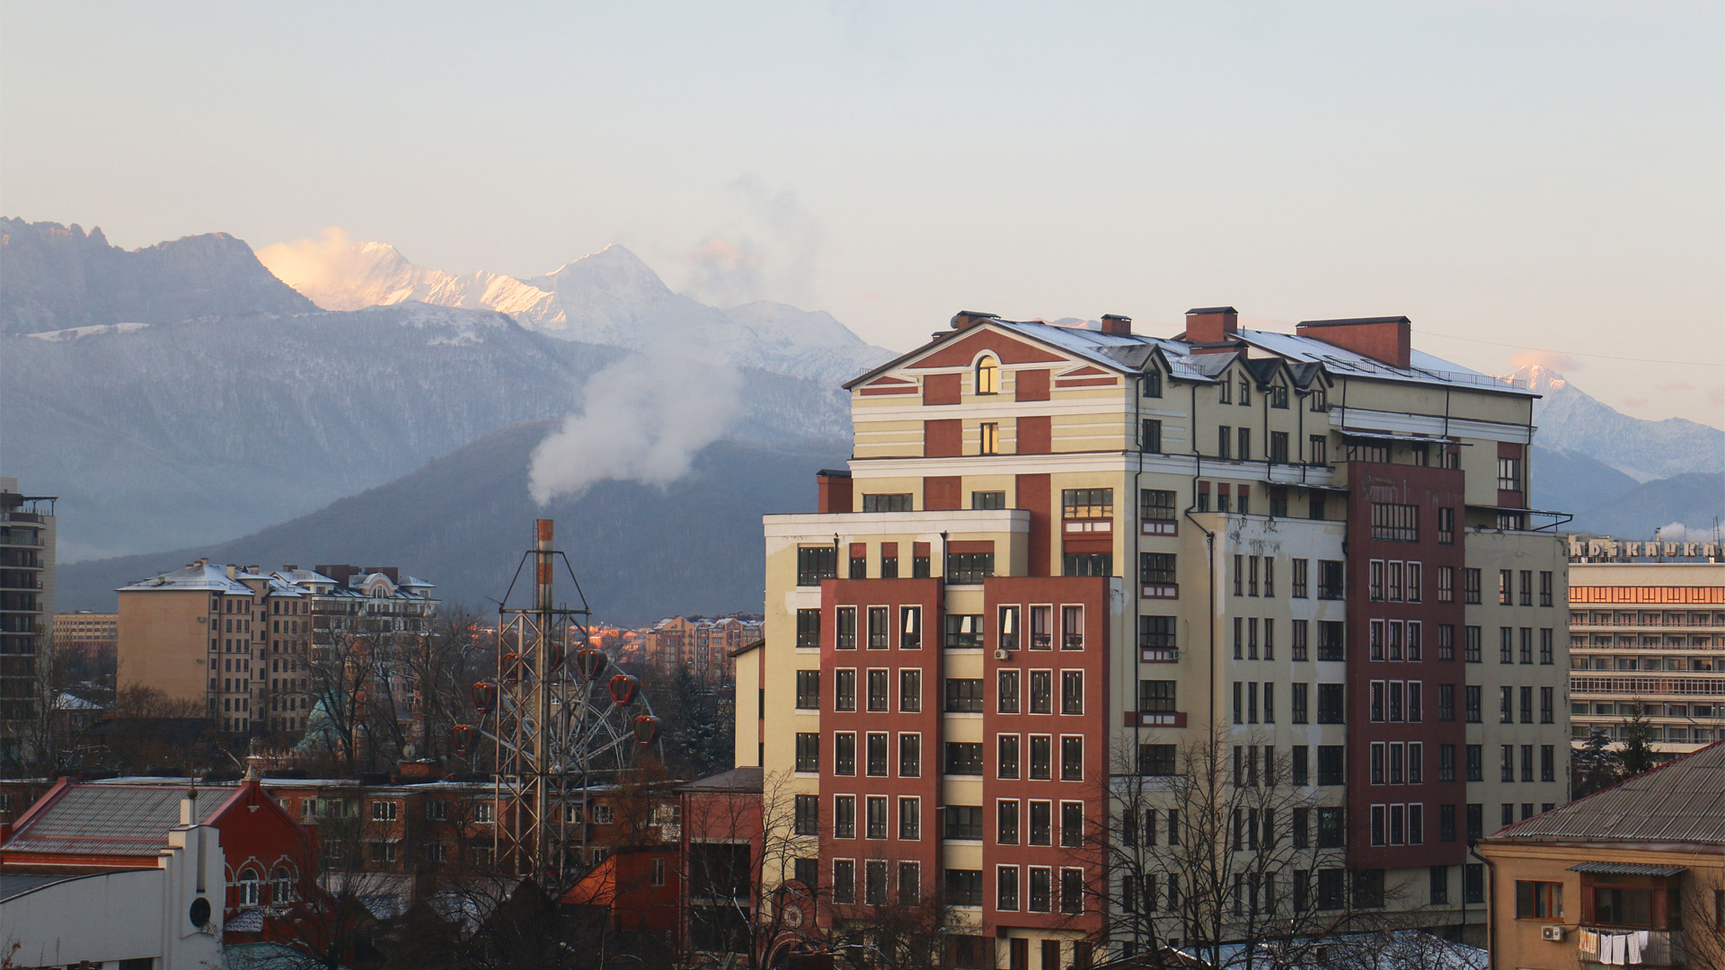
[[[209, 822], [233, 789], [198, 787], [195, 815]], [[95, 856], [154, 856], [167, 846], [167, 830], [179, 825], [183, 787], [72, 785], [41, 815], [29, 818], [5, 842], [7, 853], [78, 853]]]

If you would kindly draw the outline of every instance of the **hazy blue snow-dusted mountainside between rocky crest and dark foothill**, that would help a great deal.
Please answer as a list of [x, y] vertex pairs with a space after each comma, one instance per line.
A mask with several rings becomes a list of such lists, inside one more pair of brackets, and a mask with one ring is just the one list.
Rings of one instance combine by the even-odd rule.
[[[5, 473], [62, 495], [67, 559], [219, 542], [576, 411], [623, 354], [424, 304], [0, 337]], [[750, 373], [742, 411], [756, 444], [849, 431], [819, 381]]]

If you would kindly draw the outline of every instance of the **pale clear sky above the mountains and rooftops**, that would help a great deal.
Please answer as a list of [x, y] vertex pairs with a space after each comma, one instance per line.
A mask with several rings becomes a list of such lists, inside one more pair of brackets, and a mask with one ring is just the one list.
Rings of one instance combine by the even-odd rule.
[[0, 211], [619, 242], [909, 349], [975, 309], [1406, 314], [1725, 426], [1725, 5], [0, 3]]

